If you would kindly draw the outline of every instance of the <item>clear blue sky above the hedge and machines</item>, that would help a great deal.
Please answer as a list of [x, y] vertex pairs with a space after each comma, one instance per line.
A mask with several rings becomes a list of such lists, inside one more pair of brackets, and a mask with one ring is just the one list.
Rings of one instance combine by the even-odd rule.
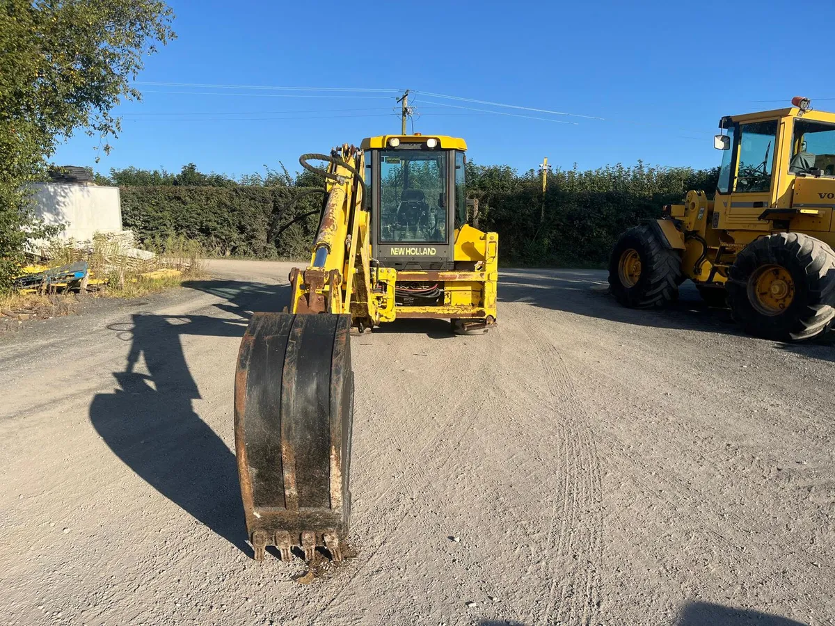
[[[835, 3], [813, 11], [767, 0], [170, 6], [178, 38], [146, 59], [137, 85], [143, 101], [119, 107], [124, 130], [111, 154], [94, 164], [98, 139], [79, 132], [54, 162], [100, 172], [179, 171], [194, 162], [240, 176], [282, 161], [294, 171], [299, 154], [400, 129], [393, 92], [147, 83], [409, 88], [417, 91], [415, 131], [463, 137], [470, 159], [520, 171], [543, 156], [563, 168], [637, 159], [706, 167], [721, 160], [711, 136], [723, 114], [782, 108], [794, 95], [835, 109], [835, 99], [822, 99], [835, 98], [825, 53]], [[814, 23], [787, 20], [800, 12]]]

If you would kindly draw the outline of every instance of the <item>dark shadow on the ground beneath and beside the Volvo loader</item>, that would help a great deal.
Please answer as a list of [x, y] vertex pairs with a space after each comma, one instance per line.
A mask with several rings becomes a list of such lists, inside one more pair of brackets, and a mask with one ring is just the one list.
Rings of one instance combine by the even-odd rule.
[[[686, 281], [679, 300], [662, 310], [628, 309], [606, 292], [605, 273], [597, 270], [503, 270], [498, 280], [499, 302], [528, 302], [546, 309], [563, 310], [635, 326], [668, 328], [748, 337], [731, 318], [731, 310], [711, 307], [696, 287]], [[825, 361], [835, 360], [832, 334], [812, 341], [781, 344], [765, 341], [775, 349], [789, 350]]]

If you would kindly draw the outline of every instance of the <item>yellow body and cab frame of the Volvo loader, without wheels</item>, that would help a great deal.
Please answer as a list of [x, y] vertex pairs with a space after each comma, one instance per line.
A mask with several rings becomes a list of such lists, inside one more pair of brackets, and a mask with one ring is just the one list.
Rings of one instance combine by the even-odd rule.
[[[809, 133], [796, 128], [801, 123], [814, 129], [815, 134], [827, 135], [819, 141], [827, 153], [814, 154], [817, 175], [792, 171], [792, 159], [802, 152], [804, 143], [811, 141]], [[756, 189], [746, 189], [740, 184], [745, 180], [740, 169], [746, 166], [742, 153], [746, 129], [757, 129], [757, 135], [763, 136], [767, 124], [775, 129], [772, 148], [764, 159], [767, 162], [760, 184], [751, 185]], [[829, 124], [831, 135], [826, 130]], [[684, 275], [696, 283], [724, 283], [736, 253], [769, 233], [807, 233], [835, 245], [835, 114], [792, 107], [729, 116], [722, 118], [720, 125], [732, 135], [721, 171], [726, 185], [716, 190], [712, 200], [703, 191], [688, 192], [684, 204], [665, 207], [664, 218], [658, 220], [668, 244], [683, 251]], [[697, 263], [702, 256], [704, 259]]]

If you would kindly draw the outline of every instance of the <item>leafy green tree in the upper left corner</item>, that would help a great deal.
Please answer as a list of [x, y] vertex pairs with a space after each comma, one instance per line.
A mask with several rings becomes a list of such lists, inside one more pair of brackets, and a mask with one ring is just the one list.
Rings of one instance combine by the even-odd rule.
[[175, 36], [172, 18], [159, 0], [0, 0], [0, 289], [43, 234], [25, 184], [76, 129], [109, 152], [120, 131], [110, 111], [139, 98], [129, 81]]

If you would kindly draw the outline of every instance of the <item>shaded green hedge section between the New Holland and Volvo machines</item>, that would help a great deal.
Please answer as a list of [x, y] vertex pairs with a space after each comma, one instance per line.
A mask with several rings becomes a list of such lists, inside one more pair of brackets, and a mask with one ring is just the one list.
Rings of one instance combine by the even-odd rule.
[[689, 189], [716, 189], [718, 169], [615, 165], [542, 179], [504, 167], [468, 167], [468, 195], [479, 199], [479, 228], [499, 236], [502, 265], [604, 265], [620, 233], [657, 218]]

